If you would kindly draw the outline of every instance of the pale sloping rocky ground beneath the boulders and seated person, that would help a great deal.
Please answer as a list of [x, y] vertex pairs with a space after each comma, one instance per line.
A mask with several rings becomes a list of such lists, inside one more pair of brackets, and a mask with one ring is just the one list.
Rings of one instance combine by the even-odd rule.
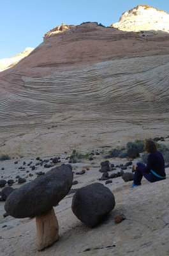
[[[62, 154], [61, 163], [67, 163], [66, 154]], [[42, 159], [50, 156], [41, 157]], [[92, 182], [98, 181], [101, 177], [99, 172], [101, 156], [96, 156], [93, 161], [85, 160], [82, 163], [72, 164], [73, 171], [86, 170], [84, 175], [76, 175], [74, 179], [78, 184], [72, 188], [81, 188]], [[127, 159], [109, 159], [110, 163], [126, 163]], [[18, 161], [18, 164], [14, 164]], [[26, 177], [26, 170], [18, 171], [18, 167], [30, 158], [11, 159], [0, 162], [2, 179], [15, 179], [16, 175]], [[36, 163], [36, 160], [32, 160]], [[138, 159], [133, 161], [136, 163]], [[60, 163], [59, 163], [60, 164]], [[59, 166], [55, 164], [55, 166]], [[49, 169], [38, 166], [35, 172]], [[114, 172], [117, 172], [115, 170]], [[131, 172], [131, 169], [125, 172]], [[22, 174], [23, 173], [23, 174]], [[112, 172], [111, 172], [112, 173]], [[169, 173], [169, 168], [166, 169]], [[115, 208], [101, 225], [96, 228], [88, 228], [81, 223], [71, 211], [71, 201], [73, 194], [67, 195], [57, 207], [54, 207], [55, 214], [59, 221], [59, 241], [42, 252], [36, 251], [36, 223], [35, 218], [15, 219], [11, 216], [3, 218], [4, 202], [0, 202], [0, 255], [1, 256], [26, 256], [26, 255], [169, 255], [168, 232], [168, 178], [166, 180], [150, 184], [143, 179], [142, 186], [136, 189], [129, 189], [132, 182], [124, 182], [121, 177], [112, 179], [108, 188], [114, 193]], [[22, 185], [13, 184], [13, 188]], [[124, 214], [126, 220], [115, 224], [114, 218], [119, 214]], [[6, 227], [3, 227], [6, 225]], [[161, 252], [163, 252], [161, 254]]]

